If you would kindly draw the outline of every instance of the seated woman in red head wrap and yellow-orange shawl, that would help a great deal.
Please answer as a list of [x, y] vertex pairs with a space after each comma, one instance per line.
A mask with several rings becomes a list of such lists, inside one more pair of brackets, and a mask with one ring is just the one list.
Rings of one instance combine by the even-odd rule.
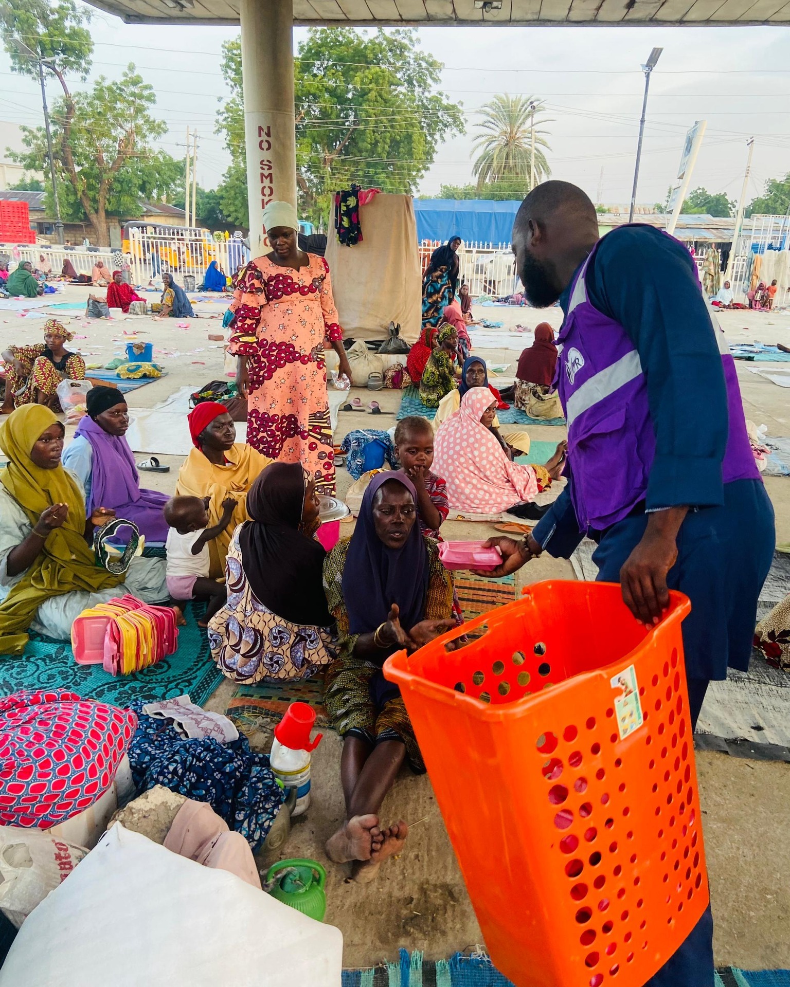
[[179, 470], [177, 496], [208, 497], [209, 526], [219, 523], [222, 501], [237, 500], [230, 524], [208, 543], [211, 578], [222, 575], [230, 539], [236, 527], [248, 520], [247, 491], [258, 474], [272, 462], [242, 442], [236, 441], [236, 425], [224, 405], [203, 401], [189, 414], [194, 449]]

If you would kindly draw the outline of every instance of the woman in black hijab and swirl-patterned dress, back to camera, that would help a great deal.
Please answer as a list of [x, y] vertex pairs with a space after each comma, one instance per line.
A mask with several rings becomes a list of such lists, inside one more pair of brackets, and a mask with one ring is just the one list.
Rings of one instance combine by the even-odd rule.
[[211, 653], [234, 682], [309, 678], [335, 655], [315, 484], [299, 463], [272, 463], [247, 513], [228, 548], [227, 602], [208, 623]]

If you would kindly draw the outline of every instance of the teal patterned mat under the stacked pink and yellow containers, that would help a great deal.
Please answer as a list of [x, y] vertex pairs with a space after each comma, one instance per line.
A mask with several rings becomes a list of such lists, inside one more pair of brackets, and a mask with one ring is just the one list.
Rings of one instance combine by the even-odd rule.
[[150, 703], [189, 693], [201, 706], [222, 681], [206, 633], [197, 627], [204, 609], [205, 604], [190, 604], [176, 653], [135, 675], [114, 677], [101, 665], [78, 665], [70, 644], [32, 635], [24, 654], [0, 656], [0, 696], [20, 689], [67, 689], [83, 699], [126, 707], [135, 699]]

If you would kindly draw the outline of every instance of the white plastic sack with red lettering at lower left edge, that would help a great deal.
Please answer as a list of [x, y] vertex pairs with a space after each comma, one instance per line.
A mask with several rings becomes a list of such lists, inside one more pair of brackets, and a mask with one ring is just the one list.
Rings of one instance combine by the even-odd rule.
[[87, 853], [45, 830], [0, 826], [0, 909], [19, 929]]

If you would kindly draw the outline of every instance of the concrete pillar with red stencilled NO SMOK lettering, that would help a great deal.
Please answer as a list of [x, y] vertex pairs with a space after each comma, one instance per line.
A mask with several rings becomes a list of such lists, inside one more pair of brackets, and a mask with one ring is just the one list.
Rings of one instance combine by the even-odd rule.
[[262, 213], [296, 204], [291, 0], [241, 0], [241, 67], [253, 257], [266, 253]]

